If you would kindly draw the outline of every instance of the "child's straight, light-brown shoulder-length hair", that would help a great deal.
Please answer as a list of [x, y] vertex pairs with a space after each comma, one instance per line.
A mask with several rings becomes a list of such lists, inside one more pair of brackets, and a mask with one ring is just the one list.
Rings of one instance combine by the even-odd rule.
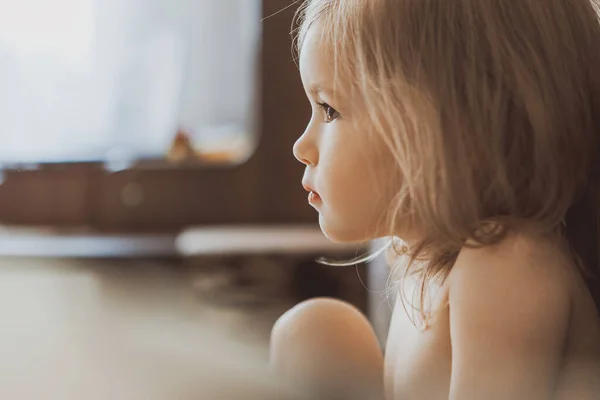
[[423, 288], [448, 275], [467, 240], [493, 244], [512, 230], [564, 225], [582, 264], [596, 270], [598, 10], [598, 0], [300, 8], [298, 51], [318, 24], [334, 90], [359, 94], [397, 162], [389, 233], [400, 221], [424, 228], [409, 263]]

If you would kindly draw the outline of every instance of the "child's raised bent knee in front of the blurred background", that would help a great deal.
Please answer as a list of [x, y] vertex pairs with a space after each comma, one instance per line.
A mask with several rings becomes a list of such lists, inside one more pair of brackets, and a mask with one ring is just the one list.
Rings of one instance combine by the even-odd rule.
[[368, 320], [333, 299], [301, 303], [271, 336], [271, 365], [322, 398], [383, 398], [383, 354]]

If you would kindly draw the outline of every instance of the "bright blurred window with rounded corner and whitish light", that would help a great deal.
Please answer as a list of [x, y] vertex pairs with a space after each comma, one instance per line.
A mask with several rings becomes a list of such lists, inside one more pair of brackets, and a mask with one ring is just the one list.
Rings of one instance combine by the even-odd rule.
[[251, 151], [258, 0], [0, 0], [0, 164]]

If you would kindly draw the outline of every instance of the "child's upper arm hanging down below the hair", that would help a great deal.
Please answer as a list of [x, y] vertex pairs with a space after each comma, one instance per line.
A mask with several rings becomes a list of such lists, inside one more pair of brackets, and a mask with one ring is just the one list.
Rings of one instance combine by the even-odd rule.
[[470, 252], [449, 278], [450, 399], [552, 398], [570, 317], [567, 280], [551, 263]]

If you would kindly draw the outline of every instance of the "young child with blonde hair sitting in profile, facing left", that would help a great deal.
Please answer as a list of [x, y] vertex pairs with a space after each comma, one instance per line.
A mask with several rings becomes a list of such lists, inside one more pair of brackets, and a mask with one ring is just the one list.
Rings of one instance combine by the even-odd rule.
[[277, 371], [340, 397], [600, 397], [599, 7], [306, 1], [309, 202], [331, 240], [400, 239], [416, 284], [385, 361], [358, 311], [318, 299], [275, 325]]

